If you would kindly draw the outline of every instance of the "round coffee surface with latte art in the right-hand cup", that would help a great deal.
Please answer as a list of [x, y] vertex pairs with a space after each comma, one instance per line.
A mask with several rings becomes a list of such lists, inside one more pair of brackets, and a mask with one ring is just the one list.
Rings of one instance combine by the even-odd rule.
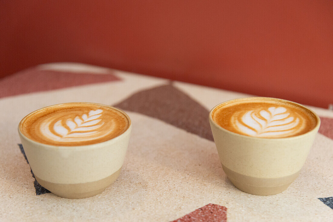
[[317, 124], [315, 115], [307, 109], [274, 99], [226, 103], [215, 108], [212, 118], [229, 131], [264, 138], [301, 135]]

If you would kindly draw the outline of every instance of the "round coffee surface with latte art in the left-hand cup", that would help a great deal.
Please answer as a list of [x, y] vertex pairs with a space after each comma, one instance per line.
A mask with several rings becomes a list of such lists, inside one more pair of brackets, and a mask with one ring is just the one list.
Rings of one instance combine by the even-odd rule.
[[108, 106], [70, 103], [44, 108], [20, 124], [28, 138], [49, 145], [77, 146], [107, 141], [129, 127], [120, 111]]

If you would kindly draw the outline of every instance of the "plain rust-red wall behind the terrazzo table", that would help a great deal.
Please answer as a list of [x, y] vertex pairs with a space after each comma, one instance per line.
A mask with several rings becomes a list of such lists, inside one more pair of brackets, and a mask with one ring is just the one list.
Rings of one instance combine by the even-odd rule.
[[333, 1], [1, 1], [1, 76], [83, 62], [333, 104]]

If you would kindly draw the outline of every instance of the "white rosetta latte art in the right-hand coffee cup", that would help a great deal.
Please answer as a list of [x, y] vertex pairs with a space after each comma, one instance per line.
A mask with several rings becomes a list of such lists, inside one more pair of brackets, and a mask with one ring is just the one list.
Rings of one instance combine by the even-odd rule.
[[233, 127], [255, 137], [285, 137], [303, 130], [304, 119], [284, 107], [269, 107], [263, 110], [236, 112], [232, 118]]

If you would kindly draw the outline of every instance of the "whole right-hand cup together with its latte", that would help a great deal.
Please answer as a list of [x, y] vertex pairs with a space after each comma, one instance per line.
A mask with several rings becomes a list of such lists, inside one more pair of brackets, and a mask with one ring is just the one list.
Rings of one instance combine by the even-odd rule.
[[300, 104], [265, 97], [215, 106], [209, 122], [223, 171], [238, 189], [273, 195], [297, 178], [320, 126]]

